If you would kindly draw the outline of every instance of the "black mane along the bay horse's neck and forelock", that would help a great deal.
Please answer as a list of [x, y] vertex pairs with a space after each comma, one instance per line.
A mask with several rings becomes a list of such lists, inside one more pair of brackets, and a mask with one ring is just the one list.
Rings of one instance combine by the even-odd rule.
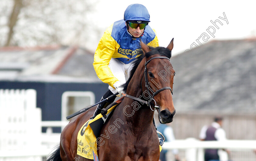
[[126, 83], [124, 83], [122, 86], [123, 86], [123, 90], [126, 92], [126, 89], [128, 87], [128, 84], [130, 83], [130, 80], [132, 79], [133, 77], [133, 74], [135, 73], [138, 65], [140, 64], [140, 61], [142, 61], [142, 59], [144, 57], [148, 58], [150, 57], [151, 55], [155, 55], [155, 54], [159, 54], [160, 56], [166, 56], [167, 58], [171, 58], [172, 57], [172, 51], [170, 51], [169, 49], [165, 48], [165, 47], [149, 47], [150, 48], [150, 52], [146, 53], [145, 55], [143, 54], [143, 51], [141, 50], [139, 52], [136, 60], [134, 60], [132, 63], [133, 63], [133, 68], [130, 72], [130, 77], [129, 79], [126, 81]]

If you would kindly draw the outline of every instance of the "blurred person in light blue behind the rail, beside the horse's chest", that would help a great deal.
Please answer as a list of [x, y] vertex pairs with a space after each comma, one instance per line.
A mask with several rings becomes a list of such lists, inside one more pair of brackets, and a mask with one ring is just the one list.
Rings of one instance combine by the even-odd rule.
[[[165, 142], [172, 142], [175, 140], [172, 127], [169, 126], [169, 124], [160, 124], [159, 123], [157, 126], [157, 131], [161, 132], [164, 135]], [[159, 161], [169, 160], [169, 159], [167, 159], [167, 152], [168, 152], [168, 150], [162, 149], [162, 151], [160, 152]], [[172, 154], [175, 157], [175, 161], [180, 161], [180, 157], [179, 157], [178, 153], [179, 153], [178, 149], [172, 150]]]

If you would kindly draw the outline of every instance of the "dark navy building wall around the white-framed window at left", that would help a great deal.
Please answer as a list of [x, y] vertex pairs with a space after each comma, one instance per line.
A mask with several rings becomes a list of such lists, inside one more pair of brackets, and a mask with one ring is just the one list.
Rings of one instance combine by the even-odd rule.
[[108, 85], [105, 83], [1, 81], [0, 89], [35, 89], [37, 107], [42, 109], [42, 121], [59, 121], [61, 120], [61, 97], [64, 92], [91, 91], [95, 95], [95, 102], [99, 102], [108, 90]]

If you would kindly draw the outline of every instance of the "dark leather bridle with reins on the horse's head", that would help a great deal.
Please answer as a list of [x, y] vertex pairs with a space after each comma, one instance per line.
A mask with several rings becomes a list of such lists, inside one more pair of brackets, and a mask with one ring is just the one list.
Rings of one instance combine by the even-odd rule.
[[[156, 58], [159, 58], [159, 59], [168, 59], [169, 61], [170, 61], [170, 59], [169, 58], [167, 58], [167, 57], [153, 57], [153, 58], [151, 58], [151, 59], [149, 59], [148, 61], [146, 61], [145, 62], [145, 65], [144, 65], [144, 78], [145, 78], [145, 86], [146, 86], [146, 88], [147, 88], [147, 92], [150, 94], [150, 86], [149, 86], [149, 83], [148, 83], [148, 69], [147, 69], [147, 65], [148, 65], [148, 63], [151, 61], [151, 60], [153, 60], [153, 59], [156, 59]], [[142, 76], [142, 79], [143, 79], [143, 76]], [[140, 88], [141, 88], [141, 90], [142, 90], [142, 79], [141, 79], [141, 82], [140, 82]], [[133, 99], [133, 100], [137, 100], [137, 101], [140, 101], [141, 103], [146, 103], [146, 105], [147, 106], [149, 106], [150, 107], [150, 109], [152, 110], [152, 111], [155, 111], [155, 109], [159, 109], [159, 106], [157, 106], [157, 104], [156, 104], [156, 101], [154, 100], [154, 96], [157, 94], [157, 93], [159, 93], [159, 92], [161, 92], [161, 91], [163, 91], [163, 90], [165, 90], [165, 89], [170, 89], [171, 90], [171, 93], [172, 93], [172, 89], [171, 89], [171, 87], [163, 87], [163, 88], [161, 88], [161, 89], [158, 89], [156, 92], [153, 92], [153, 90], [151, 89], [151, 92], [153, 93], [153, 95], [152, 95], [152, 98], [149, 100], [149, 101], [145, 101], [145, 100], [141, 100], [140, 98], [137, 98], [137, 97], [133, 97], [133, 96], [130, 96], [130, 95], [128, 95], [128, 94], [123, 94], [123, 96], [125, 96], [125, 97], [128, 97], [128, 98], [131, 98], [131, 99]], [[143, 90], [142, 90], [143, 91]], [[173, 94], [173, 93], [172, 93]], [[151, 108], [151, 105], [153, 104], [154, 105], [154, 103], [151, 103], [152, 101], [154, 101], [155, 102], [155, 109], [152, 109]]]

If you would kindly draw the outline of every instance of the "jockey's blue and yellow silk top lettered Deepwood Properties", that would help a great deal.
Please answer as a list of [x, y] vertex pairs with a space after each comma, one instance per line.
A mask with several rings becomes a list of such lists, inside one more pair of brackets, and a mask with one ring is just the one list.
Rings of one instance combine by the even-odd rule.
[[[148, 46], [159, 46], [155, 31], [149, 25], [146, 26], [140, 39]], [[93, 63], [96, 74], [102, 82], [113, 87], [118, 79], [108, 67], [110, 59], [116, 58], [124, 64], [134, 61], [141, 50], [140, 39], [132, 38], [126, 29], [124, 20], [116, 21], [105, 30], [95, 51]]]

